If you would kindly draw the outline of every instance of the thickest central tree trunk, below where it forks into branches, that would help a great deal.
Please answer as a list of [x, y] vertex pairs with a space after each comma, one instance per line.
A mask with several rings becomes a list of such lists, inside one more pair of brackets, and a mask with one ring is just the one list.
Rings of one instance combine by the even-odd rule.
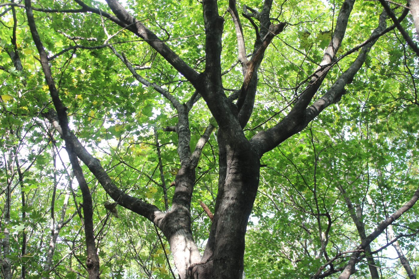
[[214, 222], [202, 261], [189, 267], [193, 279], [242, 278], [245, 234], [260, 168], [259, 156], [250, 145], [246, 147], [225, 146], [225, 181], [220, 180]]

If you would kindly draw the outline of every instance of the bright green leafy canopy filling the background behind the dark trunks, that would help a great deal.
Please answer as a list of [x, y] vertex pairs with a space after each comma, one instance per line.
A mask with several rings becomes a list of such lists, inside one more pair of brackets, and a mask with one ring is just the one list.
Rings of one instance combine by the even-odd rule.
[[[268, 2], [218, 1], [224, 18], [219, 55], [222, 87], [233, 103], [243, 89], [244, 67], [229, 5], [239, 10], [248, 65], [259, 48], [259, 32], [270, 35], [263, 23], [286, 23], [272, 36], [260, 67], [256, 66], [253, 111], [243, 125], [248, 140], [287, 120], [299, 104], [313, 73], [319, 72], [316, 68], [344, 5], [341, 0], [274, 1], [271, 19], [269, 13], [268, 19], [259, 18]], [[191, 69], [211, 71], [206, 50], [211, 34], [201, 1], [127, 0], [122, 5]], [[397, 17], [403, 17], [404, 5], [391, 5]], [[204, 141], [188, 209], [193, 240], [202, 254], [212, 221], [201, 202], [217, 219], [219, 150], [224, 145], [219, 129], [224, 129], [224, 137], [229, 133], [222, 114], [214, 112], [209, 93], [201, 92], [192, 75], [180, 73], [150, 45], [154, 39], [147, 41], [134, 34], [132, 26], [111, 20], [116, 16], [108, 16], [115, 13], [110, 3], [34, 0], [32, 6], [69, 128], [100, 161], [112, 185], [136, 201], [171, 212], [187, 159], [181, 148], [186, 145], [192, 155], [201, 152], [199, 144]], [[0, 8], [0, 274], [2, 278], [87, 277], [85, 196], [70, 165], [65, 136], [52, 123], [57, 106], [45, 81], [25, 3], [2, 0]], [[337, 59], [332, 60], [336, 63], [308, 106], [327, 95], [353, 65], [362, 52], [354, 47], [377, 28], [382, 10], [379, 1], [354, 3]], [[387, 27], [393, 24], [389, 18], [385, 21]], [[416, 40], [410, 14], [401, 25]], [[300, 132], [264, 151], [256, 199], [250, 217], [245, 216], [249, 220], [246, 278], [337, 278], [357, 245], [417, 193], [418, 62], [398, 29], [380, 34], [339, 96]], [[185, 143], [179, 107], [188, 106], [190, 140]], [[93, 201], [101, 277], [178, 278], [176, 251], [166, 227], [128, 205], [116, 205], [117, 214], [112, 214], [105, 202], [122, 204], [122, 198], [114, 201], [112, 192], [77, 156], [84, 162], [81, 167]], [[410, 266], [416, 273], [419, 264], [418, 215], [414, 205], [358, 251], [354, 277], [377, 278], [369, 269], [375, 266], [379, 278], [415, 278], [405, 268]], [[397, 241], [392, 242], [394, 238]]]

